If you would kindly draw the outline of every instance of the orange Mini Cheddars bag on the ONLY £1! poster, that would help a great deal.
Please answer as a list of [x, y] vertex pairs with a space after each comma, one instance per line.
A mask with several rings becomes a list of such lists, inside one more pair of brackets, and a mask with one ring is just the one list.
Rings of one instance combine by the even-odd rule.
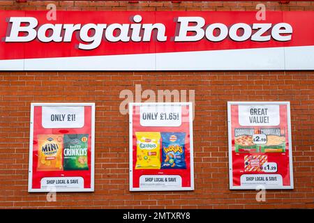
[[63, 137], [60, 134], [38, 134], [37, 171], [60, 171]]

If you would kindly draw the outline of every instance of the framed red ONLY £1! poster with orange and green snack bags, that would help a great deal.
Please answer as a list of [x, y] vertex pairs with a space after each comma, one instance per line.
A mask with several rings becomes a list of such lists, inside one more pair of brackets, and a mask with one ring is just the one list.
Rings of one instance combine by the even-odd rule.
[[94, 103], [32, 103], [29, 192], [93, 192], [94, 128]]

